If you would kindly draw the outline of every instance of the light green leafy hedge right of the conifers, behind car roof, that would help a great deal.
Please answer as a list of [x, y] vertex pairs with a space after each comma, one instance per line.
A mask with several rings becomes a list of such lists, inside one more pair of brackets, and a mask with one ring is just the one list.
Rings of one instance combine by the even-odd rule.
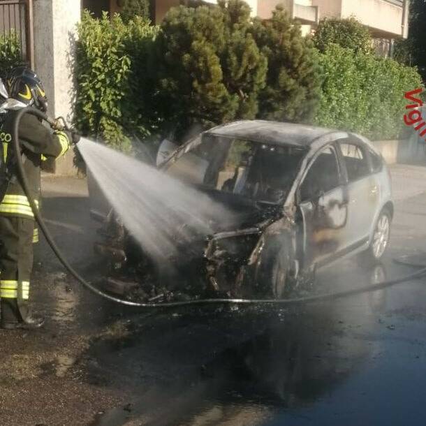
[[421, 86], [416, 68], [338, 45], [319, 58], [325, 80], [315, 124], [376, 140], [401, 134], [404, 93]]

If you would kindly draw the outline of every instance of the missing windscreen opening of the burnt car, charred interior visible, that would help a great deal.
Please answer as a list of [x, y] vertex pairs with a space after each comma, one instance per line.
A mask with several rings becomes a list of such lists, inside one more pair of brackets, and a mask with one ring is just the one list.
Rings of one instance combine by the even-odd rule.
[[166, 171], [187, 184], [279, 203], [290, 190], [306, 152], [292, 145], [205, 135]]

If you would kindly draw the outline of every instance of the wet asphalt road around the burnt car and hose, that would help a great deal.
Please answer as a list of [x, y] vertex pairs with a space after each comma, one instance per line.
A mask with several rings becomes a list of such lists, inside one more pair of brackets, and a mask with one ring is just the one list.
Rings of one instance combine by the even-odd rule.
[[[84, 185], [45, 186], [59, 244], [96, 276]], [[312, 291], [413, 272], [392, 258], [426, 252], [425, 219], [426, 192], [400, 200], [383, 265], [345, 260]], [[33, 281], [47, 325], [0, 332], [2, 425], [426, 423], [426, 279], [293, 309], [147, 312], [82, 291], [41, 242]]]

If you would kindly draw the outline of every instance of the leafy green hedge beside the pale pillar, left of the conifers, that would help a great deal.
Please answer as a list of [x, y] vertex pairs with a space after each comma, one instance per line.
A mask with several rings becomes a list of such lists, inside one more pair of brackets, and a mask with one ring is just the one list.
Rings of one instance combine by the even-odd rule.
[[88, 12], [78, 26], [75, 124], [85, 135], [122, 151], [131, 137], [149, 134], [144, 114], [147, 64], [157, 27], [142, 17], [126, 24], [116, 15], [96, 20]]

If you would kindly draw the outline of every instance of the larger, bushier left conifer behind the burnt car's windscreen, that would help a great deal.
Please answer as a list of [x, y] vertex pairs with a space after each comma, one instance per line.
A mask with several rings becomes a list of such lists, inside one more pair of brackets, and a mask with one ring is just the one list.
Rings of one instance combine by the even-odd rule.
[[161, 25], [161, 108], [172, 122], [211, 126], [254, 118], [267, 61], [242, 0], [172, 8]]

